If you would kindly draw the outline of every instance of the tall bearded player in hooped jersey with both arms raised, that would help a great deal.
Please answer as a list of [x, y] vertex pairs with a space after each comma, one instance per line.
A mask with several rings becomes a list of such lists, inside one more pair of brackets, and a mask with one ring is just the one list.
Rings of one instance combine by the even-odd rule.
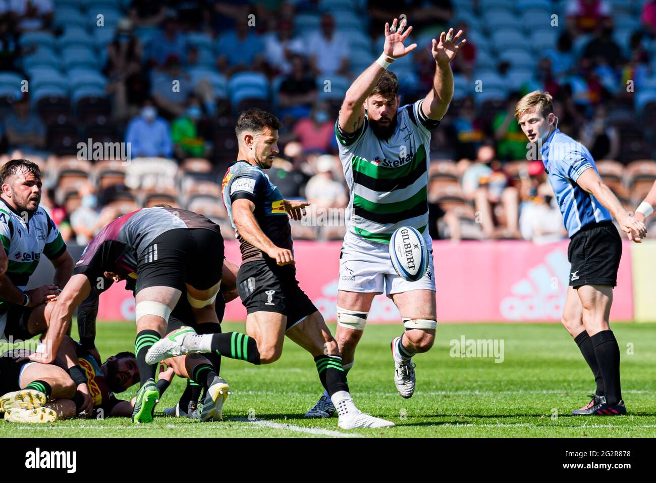
[[[405, 19], [385, 24], [382, 55], [346, 91], [335, 135], [344, 177], [350, 191], [346, 235], [340, 254], [337, 292], [337, 343], [344, 370], [353, 367], [375, 295], [392, 298], [405, 330], [392, 339], [394, 383], [403, 398], [415, 392], [415, 354], [428, 351], [435, 340], [437, 314], [432, 241], [428, 234], [428, 165], [430, 137], [453, 97], [450, 62], [465, 39], [462, 30], [442, 32], [432, 41], [435, 75], [431, 91], [401, 106], [396, 75], [387, 70], [394, 60], [417, 47], [405, 47], [412, 27]], [[398, 28], [397, 28], [398, 27]], [[388, 252], [390, 237], [402, 226], [423, 234], [430, 252], [428, 270], [419, 281], [398, 276]], [[334, 401], [323, 394], [306, 417], [329, 417]]]

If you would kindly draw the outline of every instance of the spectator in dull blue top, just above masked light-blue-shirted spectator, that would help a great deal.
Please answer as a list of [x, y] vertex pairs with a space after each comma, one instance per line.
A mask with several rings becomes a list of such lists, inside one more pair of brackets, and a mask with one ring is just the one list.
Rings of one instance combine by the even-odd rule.
[[193, 92], [189, 74], [180, 68], [180, 59], [171, 55], [164, 68], [153, 76], [151, 95], [155, 106], [167, 119], [182, 116], [188, 97]]

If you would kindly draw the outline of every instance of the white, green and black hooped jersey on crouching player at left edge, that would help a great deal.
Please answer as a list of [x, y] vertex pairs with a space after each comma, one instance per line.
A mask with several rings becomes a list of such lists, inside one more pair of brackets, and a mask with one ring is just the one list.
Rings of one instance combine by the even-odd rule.
[[[7, 276], [21, 290], [28, 285], [42, 253], [54, 260], [66, 250], [62, 235], [43, 208], [39, 207], [26, 222], [1, 198], [0, 241], [9, 258]], [[5, 310], [7, 302], [0, 299], [0, 313]]]

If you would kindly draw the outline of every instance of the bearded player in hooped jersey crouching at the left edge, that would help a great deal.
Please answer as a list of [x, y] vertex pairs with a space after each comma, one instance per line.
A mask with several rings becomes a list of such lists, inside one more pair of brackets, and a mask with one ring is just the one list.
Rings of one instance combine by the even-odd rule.
[[[28, 340], [47, 329], [45, 303], [56, 298], [73, 271], [73, 258], [57, 227], [39, 208], [41, 172], [24, 159], [0, 168], [0, 242], [9, 264], [0, 275], [0, 340]], [[25, 290], [47, 256], [54, 265], [52, 285]], [[0, 264], [0, 267], [2, 264]]]

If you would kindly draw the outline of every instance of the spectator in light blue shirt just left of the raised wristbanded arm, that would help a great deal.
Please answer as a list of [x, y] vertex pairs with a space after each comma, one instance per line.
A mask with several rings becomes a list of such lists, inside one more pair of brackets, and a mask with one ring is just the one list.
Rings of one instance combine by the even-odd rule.
[[348, 37], [337, 35], [335, 20], [329, 13], [321, 16], [321, 31], [314, 32], [308, 40], [307, 53], [316, 75], [348, 75]]

